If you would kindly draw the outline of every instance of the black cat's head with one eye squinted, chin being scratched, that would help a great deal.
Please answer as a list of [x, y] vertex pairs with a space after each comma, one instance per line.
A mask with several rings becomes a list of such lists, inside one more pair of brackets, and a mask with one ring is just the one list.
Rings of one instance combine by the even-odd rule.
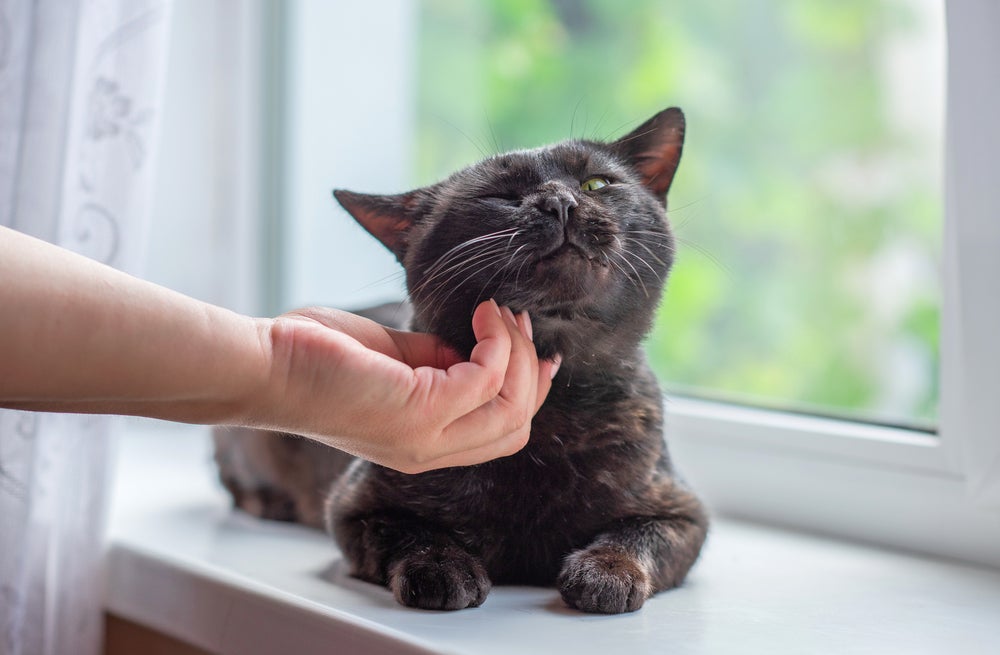
[[673, 260], [666, 194], [683, 143], [671, 108], [610, 143], [495, 155], [399, 195], [334, 194], [403, 264], [415, 328], [467, 354], [472, 311], [495, 298], [528, 311], [540, 356], [599, 364], [649, 329]]

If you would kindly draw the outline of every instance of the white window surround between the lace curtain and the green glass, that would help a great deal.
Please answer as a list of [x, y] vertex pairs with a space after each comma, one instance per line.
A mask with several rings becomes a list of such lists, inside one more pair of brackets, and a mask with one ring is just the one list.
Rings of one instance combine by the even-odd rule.
[[252, 313], [401, 297], [331, 190], [409, 184], [415, 20], [405, 0], [176, 0], [146, 277]]

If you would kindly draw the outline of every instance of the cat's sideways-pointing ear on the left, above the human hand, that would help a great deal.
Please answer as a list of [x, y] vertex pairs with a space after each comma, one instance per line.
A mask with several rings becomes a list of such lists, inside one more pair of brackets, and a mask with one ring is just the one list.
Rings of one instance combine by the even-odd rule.
[[361, 227], [403, 261], [410, 229], [420, 217], [420, 191], [382, 196], [337, 189], [333, 197]]

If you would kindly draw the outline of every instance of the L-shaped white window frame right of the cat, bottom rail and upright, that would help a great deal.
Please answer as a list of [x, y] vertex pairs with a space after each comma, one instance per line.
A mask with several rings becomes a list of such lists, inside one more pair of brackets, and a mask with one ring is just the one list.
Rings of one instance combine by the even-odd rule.
[[975, 470], [1000, 453], [1000, 7], [948, 2], [946, 16], [938, 434], [676, 399], [667, 435], [717, 513], [1000, 566], [1000, 466]]

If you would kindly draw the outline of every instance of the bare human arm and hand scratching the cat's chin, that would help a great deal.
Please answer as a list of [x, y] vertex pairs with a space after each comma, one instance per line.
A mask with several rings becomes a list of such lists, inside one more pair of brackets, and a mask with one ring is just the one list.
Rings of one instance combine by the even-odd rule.
[[557, 366], [481, 305], [470, 361], [335, 310], [242, 316], [0, 227], [0, 406], [302, 434], [407, 472], [524, 445]]

